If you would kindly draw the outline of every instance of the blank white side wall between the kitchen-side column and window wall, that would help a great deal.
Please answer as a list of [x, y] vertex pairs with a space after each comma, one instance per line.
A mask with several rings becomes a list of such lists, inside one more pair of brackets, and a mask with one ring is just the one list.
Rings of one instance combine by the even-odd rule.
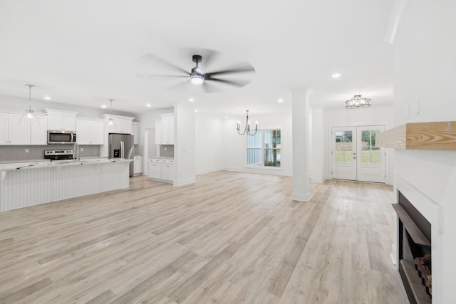
[[217, 115], [195, 116], [196, 174], [222, 168], [222, 119]]

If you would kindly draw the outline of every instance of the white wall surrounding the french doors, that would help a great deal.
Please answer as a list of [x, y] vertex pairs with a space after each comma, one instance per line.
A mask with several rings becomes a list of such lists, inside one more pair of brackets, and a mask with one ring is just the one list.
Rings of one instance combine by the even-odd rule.
[[[331, 178], [331, 127], [385, 125], [386, 130], [388, 130], [393, 126], [393, 104], [375, 105], [375, 100], [373, 100], [371, 104], [372, 106], [370, 108], [346, 109], [344, 108], [345, 105], [341, 103], [340, 108], [329, 108], [324, 110], [323, 129], [325, 142], [322, 150], [319, 150], [318, 146], [314, 148], [314, 155], [318, 153], [326, 155], [326, 178]], [[385, 173], [387, 184], [393, 184], [393, 155], [394, 153], [392, 151], [386, 150]]]

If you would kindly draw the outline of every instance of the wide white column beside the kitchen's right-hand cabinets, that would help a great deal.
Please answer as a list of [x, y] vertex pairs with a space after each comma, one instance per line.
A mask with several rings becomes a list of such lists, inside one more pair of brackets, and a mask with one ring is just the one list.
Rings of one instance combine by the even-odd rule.
[[178, 104], [174, 108], [175, 150], [174, 185], [196, 182], [195, 179], [195, 108]]

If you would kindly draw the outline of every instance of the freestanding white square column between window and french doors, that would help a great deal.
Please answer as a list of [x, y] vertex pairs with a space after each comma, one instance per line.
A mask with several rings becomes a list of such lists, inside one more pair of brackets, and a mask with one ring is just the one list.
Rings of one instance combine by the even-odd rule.
[[293, 191], [291, 199], [309, 201], [309, 88], [294, 88], [292, 95]]

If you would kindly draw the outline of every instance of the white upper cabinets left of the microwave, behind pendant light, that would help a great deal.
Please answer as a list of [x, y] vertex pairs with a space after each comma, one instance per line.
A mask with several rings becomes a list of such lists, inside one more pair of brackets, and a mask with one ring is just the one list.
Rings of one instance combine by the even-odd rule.
[[46, 145], [47, 117], [36, 112], [39, 125], [21, 125], [24, 112], [0, 112], [0, 145]]

